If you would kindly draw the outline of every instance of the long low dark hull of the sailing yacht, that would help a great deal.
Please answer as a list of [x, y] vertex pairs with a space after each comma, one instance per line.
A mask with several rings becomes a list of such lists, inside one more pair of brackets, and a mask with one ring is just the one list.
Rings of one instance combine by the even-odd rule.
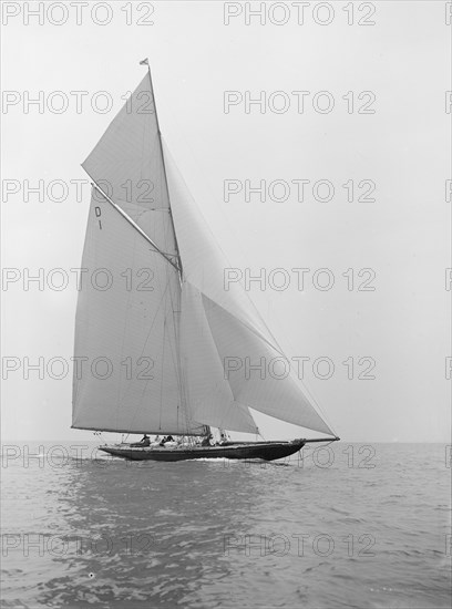
[[100, 451], [130, 461], [189, 461], [193, 458], [261, 458], [274, 461], [297, 453], [305, 445], [305, 440], [290, 442], [249, 442], [228, 443], [224, 446], [176, 446], [144, 447], [100, 446]]

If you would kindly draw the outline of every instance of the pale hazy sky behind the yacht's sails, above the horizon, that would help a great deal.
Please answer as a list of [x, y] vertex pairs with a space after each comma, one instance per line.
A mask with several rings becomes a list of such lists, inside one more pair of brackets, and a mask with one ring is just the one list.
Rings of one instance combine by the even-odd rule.
[[[277, 2], [271, 11], [266, 6], [261, 23], [264, 17], [248, 14], [255, 2], [90, 2], [80, 24], [75, 3], [66, 14], [58, 2], [41, 3], [42, 24], [27, 14], [38, 4], [2, 3], [2, 258], [6, 269], [18, 269], [8, 277], [19, 278], [2, 291], [3, 437], [92, 437], [70, 429], [72, 371], [61, 380], [30, 371], [27, 379], [24, 358], [70, 361], [70, 269], [81, 266], [90, 200], [88, 183], [78, 197], [71, 180], [88, 180], [80, 163], [143, 78], [138, 61], [148, 56], [172, 155], [233, 265], [251, 275], [265, 269], [265, 289], [253, 283], [250, 295], [287, 355], [310, 358], [306, 383], [338, 435], [446, 442], [445, 3], [353, 2], [351, 12], [347, 2], [311, 2], [301, 22], [297, 3]], [[76, 91], [88, 92], [79, 107]], [[28, 105], [39, 92], [42, 107]], [[228, 112], [225, 92], [235, 102]], [[263, 106], [246, 105], [259, 95]], [[25, 192], [39, 180], [42, 200]], [[52, 188], [53, 180], [68, 192]], [[240, 188], [227, 202], [225, 180]], [[246, 197], [246, 186], [260, 180], [263, 197]], [[309, 180], [304, 200], [298, 180]], [[328, 183], [312, 189], [318, 180], [333, 194]], [[39, 268], [42, 289], [24, 280]], [[70, 277], [66, 289], [47, 285], [54, 268]], [[310, 269], [304, 289], [292, 268]], [[287, 289], [276, 289], [284, 278]], [[331, 278], [331, 289], [320, 289]], [[358, 290], [366, 285], [374, 290]], [[323, 363], [312, 365], [318, 358]], [[11, 362], [19, 368], [7, 374]], [[330, 378], [316, 378], [331, 362]], [[372, 362], [367, 375], [374, 379], [360, 379]], [[256, 419], [267, 437], [300, 435]]]

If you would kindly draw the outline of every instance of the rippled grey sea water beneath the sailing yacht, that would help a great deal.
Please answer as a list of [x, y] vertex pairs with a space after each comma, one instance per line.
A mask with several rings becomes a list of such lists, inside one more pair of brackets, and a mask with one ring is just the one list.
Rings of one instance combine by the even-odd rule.
[[56, 444], [3, 447], [4, 607], [450, 607], [444, 445], [263, 465]]

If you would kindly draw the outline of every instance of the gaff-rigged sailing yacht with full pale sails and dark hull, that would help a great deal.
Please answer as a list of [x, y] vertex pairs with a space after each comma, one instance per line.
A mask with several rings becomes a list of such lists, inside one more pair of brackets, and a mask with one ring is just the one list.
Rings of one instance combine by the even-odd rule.
[[[82, 164], [91, 281], [76, 308], [74, 361], [86, 365], [74, 367], [72, 427], [178, 438], [100, 446], [127, 460], [271, 461], [339, 440], [292, 370], [263, 379], [226, 367], [285, 355], [242, 286], [225, 288], [230, 265], [164, 145], [141, 63], [145, 76]], [[258, 434], [253, 411], [322, 436], [201, 445], [212, 429]]]

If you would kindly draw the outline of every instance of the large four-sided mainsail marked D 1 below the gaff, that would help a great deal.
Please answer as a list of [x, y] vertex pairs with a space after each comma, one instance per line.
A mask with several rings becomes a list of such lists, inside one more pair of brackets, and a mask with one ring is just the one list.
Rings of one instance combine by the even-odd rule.
[[178, 272], [95, 192], [82, 268], [73, 426], [202, 434], [185, 409]]

